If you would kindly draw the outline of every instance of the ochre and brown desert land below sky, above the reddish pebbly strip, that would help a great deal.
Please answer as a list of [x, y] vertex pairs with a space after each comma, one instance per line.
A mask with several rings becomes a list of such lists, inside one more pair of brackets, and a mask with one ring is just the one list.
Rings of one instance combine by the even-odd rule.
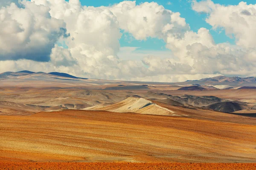
[[0, 76], [2, 169], [10, 161], [256, 162], [256, 89], [241, 88], [254, 82]]

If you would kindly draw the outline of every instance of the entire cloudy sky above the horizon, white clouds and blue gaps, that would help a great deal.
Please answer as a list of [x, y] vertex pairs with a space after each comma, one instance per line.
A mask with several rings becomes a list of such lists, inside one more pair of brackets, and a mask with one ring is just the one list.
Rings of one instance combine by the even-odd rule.
[[256, 73], [254, 0], [1, 0], [0, 72], [180, 82]]

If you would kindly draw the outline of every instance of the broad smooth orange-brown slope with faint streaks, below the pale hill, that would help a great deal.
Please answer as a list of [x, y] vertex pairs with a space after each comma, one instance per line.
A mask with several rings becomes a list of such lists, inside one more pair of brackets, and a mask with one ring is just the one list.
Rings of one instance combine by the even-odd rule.
[[255, 125], [136, 113], [0, 116], [0, 161], [255, 163], [255, 134]]

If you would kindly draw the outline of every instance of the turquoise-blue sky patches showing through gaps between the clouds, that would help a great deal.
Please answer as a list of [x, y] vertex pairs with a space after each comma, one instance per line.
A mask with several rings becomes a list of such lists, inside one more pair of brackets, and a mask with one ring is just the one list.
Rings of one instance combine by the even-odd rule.
[[[68, 0], [66, 0], [68, 1]], [[122, 2], [123, 0], [80, 0], [83, 6], [109, 6], [114, 3]], [[200, 1], [200, 0], [198, 0]], [[224, 5], [237, 5], [241, 0], [212, 0], [214, 3], [224, 4]], [[152, 2], [152, 0], [137, 0], [136, 3], [140, 4], [143, 2]], [[163, 5], [166, 9], [174, 12], [180, 12], [180, 16], [186, 19], [186, 23], [189, 23], [192, 31], [197, 31], [199, 28], [204, 27], [210, 30], [216, 43], [230, 42], [235, 43], [234, 39], [230, 39], [225, 35], [224, 31], [212, 30], [212, 27], [205, 22], [205, 14], [198, 14], [192, 10], [191, 3], [189, 0], [154, 0], [154, 2]], [[172, 3], [168, 5], [168, 2]], [[247, 0], [247, 4], [254, 4], [255, 0]], [[221, 31], [221, 33], [220, 33]], [[137, 41], [134, 40], [127, 33], [123, 33], [120, 40], [121, 47], [132, 46], [139, 47], [137, 50], [167, 50], [165, 48], [165, 42], [156, 38], [148, 38], [147, 40]]]

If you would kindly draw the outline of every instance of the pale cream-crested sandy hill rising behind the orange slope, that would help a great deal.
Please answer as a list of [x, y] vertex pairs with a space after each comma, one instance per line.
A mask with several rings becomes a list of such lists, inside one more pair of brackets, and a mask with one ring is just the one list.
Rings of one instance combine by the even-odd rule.
[[87, 108], [88, 110], [100, 110], [100, 111], [112, 111], [117, 113], [141, 113], [141, 114], [152, 114], [152, 115], [174, 115], [175, 112], [163, 108], [154, 102], [144, 99], [144, 98], [136, 98], [136, 97], [129, 97], [122, 102], [118, 102], [113, 105], [109, 106], [102, 106], [99, 105], [95, 107]]

